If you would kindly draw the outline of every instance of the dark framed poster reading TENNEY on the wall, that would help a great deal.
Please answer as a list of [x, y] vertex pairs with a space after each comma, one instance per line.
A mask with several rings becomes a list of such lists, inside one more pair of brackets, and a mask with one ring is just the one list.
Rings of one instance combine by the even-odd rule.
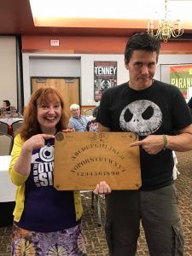
[[99, 102], [104, 90], [117, 85], [117, 61], [94, 61], [94, 100]]

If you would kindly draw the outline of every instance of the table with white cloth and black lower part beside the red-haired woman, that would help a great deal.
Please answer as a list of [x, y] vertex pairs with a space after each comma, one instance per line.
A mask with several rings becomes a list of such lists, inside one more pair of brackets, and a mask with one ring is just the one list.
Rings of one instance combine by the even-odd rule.
[[16, 186], [9, 177], [10, 155], [0, 156], [0, 227], [13, 223]]

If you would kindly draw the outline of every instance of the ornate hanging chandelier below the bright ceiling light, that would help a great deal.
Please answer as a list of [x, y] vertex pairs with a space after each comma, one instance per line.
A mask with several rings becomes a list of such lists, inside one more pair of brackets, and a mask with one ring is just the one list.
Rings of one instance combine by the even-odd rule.
[[154, 38], [163, 39], [165, 43], [169, 38], [177, 38], [183, 35], [181, 20], [167, 18], [167, 0], [165, 0], [165, 18], [158, 21], [157, 27], [154, 26], [154, 20], [150, 20], [148, 22], [148, 34]]

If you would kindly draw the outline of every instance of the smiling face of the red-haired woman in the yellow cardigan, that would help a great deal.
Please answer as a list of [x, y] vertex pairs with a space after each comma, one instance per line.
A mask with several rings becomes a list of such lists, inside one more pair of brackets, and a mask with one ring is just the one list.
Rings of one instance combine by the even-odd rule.
[[52, 95], [47, 97], [46, 102], [38, 104], [38, 123], [43, 133], [55, 134], [61, 111], [60, 99]]

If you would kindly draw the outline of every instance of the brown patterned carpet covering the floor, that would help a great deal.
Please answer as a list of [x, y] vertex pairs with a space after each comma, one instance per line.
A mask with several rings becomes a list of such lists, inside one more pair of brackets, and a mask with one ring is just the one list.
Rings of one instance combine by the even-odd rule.
[[[185, 239], [185, 256], [192, 256], [192, 151], [177, 153], [178, 170], [181, 174], [177, 177], [177, 191], [180, 212], [183, 218], [183, 232]], [[108, 247], [105, 240], [103, 225], [105, 222], [105, 202], [100, 197], [102, 226], [98, 227], [98, 218], [95, 208], [91, 208], [91, 193], [82, 193], [84, 207], [83, 227], [84, 238], [88, 256], [108, 256]], [[1, 218], [1, 214], [0, 214]], [[0, 228], [0, 256], [10, 255], [11, 226]], [[138, 241], [137, 255], [149, 255], [143, 230]], [[21, 256], [21, 255], [20, 255]]]

